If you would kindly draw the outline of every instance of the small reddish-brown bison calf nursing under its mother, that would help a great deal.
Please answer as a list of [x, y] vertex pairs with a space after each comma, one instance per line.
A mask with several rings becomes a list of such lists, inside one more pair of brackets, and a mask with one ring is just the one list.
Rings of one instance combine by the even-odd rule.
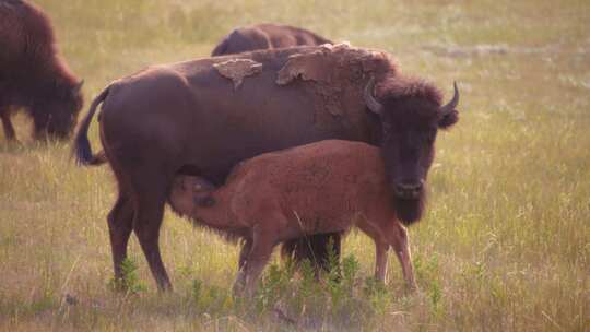
[[396, 216], [378, 147], [329, 140], [240, 163], [216, 190], [178, 176], [170, 204], [182, 215], [244, 239], [235, 289], [252, 294], [275, 245], [309, 235], [361, 228], [375, 241], [375, 276], [385, 281], [393, 248], [405, 281], [414, 275], [405, 228]]

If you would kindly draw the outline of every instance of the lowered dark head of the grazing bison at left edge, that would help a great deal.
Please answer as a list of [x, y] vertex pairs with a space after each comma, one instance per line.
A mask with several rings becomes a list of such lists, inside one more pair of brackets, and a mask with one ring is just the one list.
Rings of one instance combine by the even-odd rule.
[[82, 109], [82, 84], [63, 84], [58, 86], [51, 96], [38, 105], [35, 112], [35, 132], [40, 138], [45, 134], [56, 139], [67, 139], [71, 135], [78, 115]]

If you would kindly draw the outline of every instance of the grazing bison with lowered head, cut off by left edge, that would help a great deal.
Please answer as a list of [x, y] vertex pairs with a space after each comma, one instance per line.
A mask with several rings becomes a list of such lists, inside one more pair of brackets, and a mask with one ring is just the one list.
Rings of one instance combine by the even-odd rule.
[[11, 114], [24, 108], [34, 137], [67, 138], [82, 108], [82, 83], [58, 55], [49, 17], [22, 0], [0, 0], [0, 118], [14, 140]]

